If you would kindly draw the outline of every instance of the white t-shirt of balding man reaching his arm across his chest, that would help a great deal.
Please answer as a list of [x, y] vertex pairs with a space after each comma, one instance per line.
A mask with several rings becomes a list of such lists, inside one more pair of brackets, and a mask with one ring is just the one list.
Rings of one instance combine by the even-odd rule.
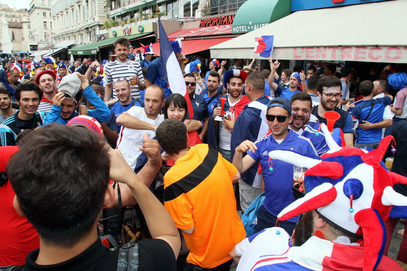
[[[148, 118], [144, 108], [139, 106], [131, 107], [127, 113], [138, 118], [142, 122], [158, 126], [164, 121], [164, 115], [158, 115], [156, 119]], [[124, 159], [129, 166], [134, 169], [137, 164], [137, 158], [141, 154], [138, 147], [143, 145], [143, 134], [147, 133], [149, 138], [156, 136], [156, 133], [151, 130], [135, 130], [122, 126], [120, 136], [118, 138], [117, 149], [123, 154]]]

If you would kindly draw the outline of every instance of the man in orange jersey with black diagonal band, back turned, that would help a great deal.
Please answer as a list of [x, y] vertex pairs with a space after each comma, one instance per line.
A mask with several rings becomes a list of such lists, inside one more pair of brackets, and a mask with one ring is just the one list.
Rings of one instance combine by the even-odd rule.
[[165, 119], [156, 135], [175, 162], [164, 176], [164, 206], [191, 251], [184, 271], [228, 271], [229, 251], [246, 235], [232, 187], [240, 173], [207, 144], [189, 147], [177, 119]]

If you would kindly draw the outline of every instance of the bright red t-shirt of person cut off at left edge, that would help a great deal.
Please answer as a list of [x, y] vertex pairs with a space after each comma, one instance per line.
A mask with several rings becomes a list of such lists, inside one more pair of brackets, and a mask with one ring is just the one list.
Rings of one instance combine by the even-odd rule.
[[[17, 146], [0, 147], [0, 171], [18, 150]], [[15, 193], [10, 182], [0, 187], [0, 266], [25, 263], [28, 252], [40, 247], [40, 239], [33, 225], [17, 214], [13, 207]]]

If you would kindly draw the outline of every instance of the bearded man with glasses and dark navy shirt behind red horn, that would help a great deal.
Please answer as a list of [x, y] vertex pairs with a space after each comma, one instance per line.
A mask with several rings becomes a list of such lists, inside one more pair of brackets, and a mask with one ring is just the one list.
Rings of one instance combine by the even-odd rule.
[[337, 107], [340, 102], [341, 94], [341, 81], [335, 76], [324, 76], [316, 83], [316, 91], [321, 103], [312, 107], [312, 114], [316, 116], [319, 122], [327, 124], [324, 117], [325, 112], [335, 111], [338, 112], [340, 118], [335, 122], [334, 129], [340, 128], [343, 132], [343, 138], [346, 146], [353, 147], [353, 122], [351, 113]]

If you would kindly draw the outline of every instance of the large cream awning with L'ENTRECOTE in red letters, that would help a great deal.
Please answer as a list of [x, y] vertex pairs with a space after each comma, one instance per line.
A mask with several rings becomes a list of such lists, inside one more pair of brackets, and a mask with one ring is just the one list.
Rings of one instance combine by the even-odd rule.
[[[254, 38], [275, 34], [273, 59], [407, 63], [405, 7], [407, 0], [396, 0], [297, 11], [211, 47], [211, 57], [262, 58], [253, 53]], [[323, 23], [304, 27], [310, 20]]]

